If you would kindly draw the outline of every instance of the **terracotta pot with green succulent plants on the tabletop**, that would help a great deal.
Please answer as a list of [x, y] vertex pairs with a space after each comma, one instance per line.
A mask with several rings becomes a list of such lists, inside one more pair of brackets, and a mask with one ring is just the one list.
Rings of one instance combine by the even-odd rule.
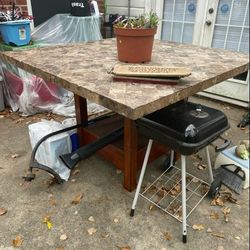
[[154, 35], [159, 18], [150, 11], [139, 17], [119, 20], [114, 24], [118, 59], [128, 63], [145, 63], [151, 60]]

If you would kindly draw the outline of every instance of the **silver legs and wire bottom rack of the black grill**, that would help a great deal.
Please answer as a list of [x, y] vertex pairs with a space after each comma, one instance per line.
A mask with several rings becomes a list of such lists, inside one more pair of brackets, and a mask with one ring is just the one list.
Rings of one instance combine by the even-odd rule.
[[[130, 216], [134, 216], [136, 203], [138, 201], [139, 195], [160, 208], [165, 213], [169, 214], [173, 218], [182, 222], [182, 237], [183, 243], [187, 242], [187, 218], [194, 211], [194, 209], [201, 203], [204, 197], [209, 191], [209, 184], [194, 175], [186, 172], [186, 157], [181, 155], [181, 169], [174, 166], [174, 151], [171, 150], [170, 155], [170, 167], [164, 171], [157, 179], [155, 179], [143, 192], [140, 193], [142, 181], [146, 171], [148, 158], [150, 155], [153, 140], [149, 139], [146, 154], [144, 157], [141, 174], [139, 177], [139, 182], [137, 184], [131, 213]], [[210, 161], [209, 149], [206, 146], [206, 156], [208, 163], [208, 170], [210, 181], [213, 181], [213, 172]], [[171, 171], [169, 171], [171, 168]], [[170, 184], [170, 186], [168, 186]], [[173, 190], [176, 190], [177, 186], [181, 185], [181, 190], [177, 190], [176, 194], [173, 194]], [[207, 186], [206, 191], [204, 191], [203, 186]], [[161, 193], [161, 198], [159, 194]], [[163, 193], [163, 195], [162, 195]], [[181, 196], [181, 199], [180, 199]], [[169, 200], [166, 202], [166, 200]], [[192, 201], [193, 199], [193, 201]], [[164, 201], [165, 200], [165, 201]], [[194, 204], [187, 204], [191, 201]], [[175, 204], [180, 204], [176, 207]], [[187, 211], [188, 209], [188, 211]], [[171, 212], [172, 211], [172, 212]], [[180, 216], [181, 214], [181, 216]]]

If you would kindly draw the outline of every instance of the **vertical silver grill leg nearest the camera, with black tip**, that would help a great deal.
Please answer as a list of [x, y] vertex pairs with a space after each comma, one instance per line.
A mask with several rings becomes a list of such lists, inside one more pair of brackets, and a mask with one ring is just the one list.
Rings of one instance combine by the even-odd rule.
[[181, 155], [181, 190], [182, 190], [182, 241], [187, 242], [186, 218], [186, 156]]

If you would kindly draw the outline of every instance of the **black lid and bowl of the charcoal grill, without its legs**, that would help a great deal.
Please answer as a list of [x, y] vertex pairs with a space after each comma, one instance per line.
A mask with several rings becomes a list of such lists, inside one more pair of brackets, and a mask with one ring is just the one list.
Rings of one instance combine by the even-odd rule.
[[198, 152], [229, 128], [227, 117], [220, 110], [186, 101], [149, 114], [136, 123], [142, 134], [182, 155]]

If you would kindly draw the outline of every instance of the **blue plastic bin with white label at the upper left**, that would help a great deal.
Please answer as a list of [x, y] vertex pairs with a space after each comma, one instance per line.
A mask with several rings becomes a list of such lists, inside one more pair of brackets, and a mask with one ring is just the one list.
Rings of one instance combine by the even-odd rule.
[[2, 22], [0, 23], [0, 32], [5, 44], [27, 45], [31, 40], [30, 20]]

